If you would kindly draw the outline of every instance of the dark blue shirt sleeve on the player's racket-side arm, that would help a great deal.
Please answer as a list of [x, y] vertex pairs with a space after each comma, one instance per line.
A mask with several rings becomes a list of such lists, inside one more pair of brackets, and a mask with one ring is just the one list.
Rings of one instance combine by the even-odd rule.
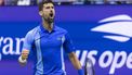
[[68, 33], [65, 35], [64, 49], [67, 53], [75, 51], [75, 47], [72, 45], [72, 41], [71, 41]]

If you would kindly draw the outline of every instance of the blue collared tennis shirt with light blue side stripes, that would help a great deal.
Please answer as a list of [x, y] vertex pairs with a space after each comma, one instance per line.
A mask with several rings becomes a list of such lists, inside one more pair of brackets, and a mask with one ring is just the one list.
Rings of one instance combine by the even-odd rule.
[[67, 30], [53, 26], [49, 33], [42, 25], [27, 33], [25, 49], [34, 53], [34, 75], [66, 75], [63, 53], [74, 51]]

